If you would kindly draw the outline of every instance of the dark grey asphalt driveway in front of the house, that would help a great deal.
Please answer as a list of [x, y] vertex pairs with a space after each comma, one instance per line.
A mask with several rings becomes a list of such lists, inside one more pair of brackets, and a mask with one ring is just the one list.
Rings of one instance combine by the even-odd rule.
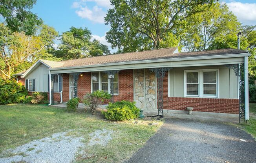
[[157, 134], [127, 162], [256, 163], [256, 141], [232, 125], [166, 119]]

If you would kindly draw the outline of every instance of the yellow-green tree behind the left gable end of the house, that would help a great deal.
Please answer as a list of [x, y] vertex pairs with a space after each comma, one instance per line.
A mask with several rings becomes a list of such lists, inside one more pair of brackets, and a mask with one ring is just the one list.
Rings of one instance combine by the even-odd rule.
[[[46, 29], [51, 29], [49, 30]], [[27, 36], [25, 32], [12, 32], [3, 23], [0, 24], [0, 72], [4, 79], [11, 79], [11, 75], [26, 70], [38, 59], [55, 60], [47, 52], [47, 47], [53, 44], [58, 33], [43, 25], [38, 35]], [[51, 38], [52, 40], [44, 39]]]

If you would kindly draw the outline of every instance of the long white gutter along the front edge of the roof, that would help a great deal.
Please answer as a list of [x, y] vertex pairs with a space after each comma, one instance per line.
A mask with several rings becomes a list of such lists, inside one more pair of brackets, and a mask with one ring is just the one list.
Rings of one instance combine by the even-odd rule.
[[251, 56], [251, 53], [225, 54], [225, 55], [215, 55], [215, 56], [196, 56], [196, 57], [185, 57], [185, 58], [164, 58], [164, 59], [156, 59], [156, 60], [140, 60], [140, 61], [129, 61], [129, 62], [104, 63], [104, 64], [97, 64], [97, 65], [49, 68], [48, 70], [78, 69], [78, 68], [103, 67], [103, 66], [109, 66], [109, 65], [112, 65], [112, 66], [113, 65], [128, 65], [128, 64], [140, 64], [140, 63], [175, 62], [175, 61], [184, 61], [184, 60], [236, 58], [236, 57], [245, 57], [245, 56]]

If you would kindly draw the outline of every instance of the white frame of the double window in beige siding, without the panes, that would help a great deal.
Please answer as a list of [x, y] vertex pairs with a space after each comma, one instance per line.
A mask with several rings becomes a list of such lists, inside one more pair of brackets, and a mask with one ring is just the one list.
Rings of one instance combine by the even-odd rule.
[[[216, 71], [217, 72], [217, 84], [216, 84], [216, 95], [204, 95], [203, 94], [203, 72]], [[198, 96], [187, 95], [187, 72], [198, 72]], [[199, 97], [199, 98], [219, 98], [219, 69], [197, 69], [197, 70], [185, 70], [184, 71], [184, 97]]]

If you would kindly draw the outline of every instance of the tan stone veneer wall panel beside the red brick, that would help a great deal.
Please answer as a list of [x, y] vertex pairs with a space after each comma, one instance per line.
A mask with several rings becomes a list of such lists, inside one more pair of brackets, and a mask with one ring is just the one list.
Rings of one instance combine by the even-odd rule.
[[134, 96], [136, 106], [141, 109], [156, 108], [155, 73], [148, 69], [134, 70]]

